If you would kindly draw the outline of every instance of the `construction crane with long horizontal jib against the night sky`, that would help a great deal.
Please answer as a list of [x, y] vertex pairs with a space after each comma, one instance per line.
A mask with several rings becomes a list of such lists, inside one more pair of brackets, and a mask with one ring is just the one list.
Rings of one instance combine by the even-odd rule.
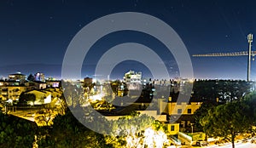
[[253, 34], [247, 35], [248, 51], [232, 52], [232, 53], [212, 53], [212, 54], [193, 54], [193, 57], [213, 57], [213, 56], [248, 56], [247, 58], [247, 81], [250, 81], [251, 74], [251, 58], [256, 55], [256, 51], [252, 51]]

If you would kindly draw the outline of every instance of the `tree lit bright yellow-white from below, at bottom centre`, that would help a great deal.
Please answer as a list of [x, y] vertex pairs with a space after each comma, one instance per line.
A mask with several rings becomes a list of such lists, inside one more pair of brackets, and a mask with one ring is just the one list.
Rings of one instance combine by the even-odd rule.
[[[113, 135], [105, 136], [106, 142], [112, 147], [163, 147], [168, 145], [166, 126], [154, 117], [131, 115], [112, 121]], [[115, 136], [119, 135], [119, 136]]]

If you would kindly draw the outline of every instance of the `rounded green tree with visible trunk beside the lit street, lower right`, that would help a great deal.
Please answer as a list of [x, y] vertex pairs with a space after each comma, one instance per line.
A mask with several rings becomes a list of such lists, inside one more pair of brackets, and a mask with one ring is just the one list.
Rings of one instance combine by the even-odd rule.
[[230, 140], [232, 147], [235, 148], [236, 136], [246, 133], [251, 128], [249, 117], [243, 112], [247, 109], [248, 106], [242, 101], [218, 105], [201, 118], [201, 126], [207, 135], [224, 137]]

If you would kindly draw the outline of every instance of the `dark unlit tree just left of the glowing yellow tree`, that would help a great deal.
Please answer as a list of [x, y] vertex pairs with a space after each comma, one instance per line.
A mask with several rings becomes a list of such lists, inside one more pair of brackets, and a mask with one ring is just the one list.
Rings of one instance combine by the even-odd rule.
[[38, 135], [38, 147], [106, 147], [104, 136], [84, 127], [71, 111], [58, 115], [52, 128]]

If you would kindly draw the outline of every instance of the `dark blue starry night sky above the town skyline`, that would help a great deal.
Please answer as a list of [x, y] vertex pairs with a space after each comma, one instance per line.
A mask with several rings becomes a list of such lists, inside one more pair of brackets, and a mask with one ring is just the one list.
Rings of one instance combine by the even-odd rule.
[[[195, 78], [246, 79], [246, 56], [195, 58], [192, 54], [247, 50], [247, 34], [252, 32], [256, 37], [255, 6], [253, 0], [2, 0], [0, 76], [15, 71], [25, 74], [42, 71], [48, 77], [61, 77], [67, 46], [79, 30], [107, 14], [139, 12], [153, 15], [177, 31], [191, 55]], [[137, 31], [113, 32], [102, 37], [90, 48], [82, 76], [92, 77], [102, 54], [108, 48], [126, 42], [152, 48], [164, 60], [170, 75], [178, 77], [177, 63], [166, 47], [154, 37]], [[252, 80], [256, 80], [255, 66], [253, 61]], [[125, 61], [113, 69], [111, 77], [121, 78], [130, 69], [143, 71], [145, 77], [151, 76], [142, 63]]]

